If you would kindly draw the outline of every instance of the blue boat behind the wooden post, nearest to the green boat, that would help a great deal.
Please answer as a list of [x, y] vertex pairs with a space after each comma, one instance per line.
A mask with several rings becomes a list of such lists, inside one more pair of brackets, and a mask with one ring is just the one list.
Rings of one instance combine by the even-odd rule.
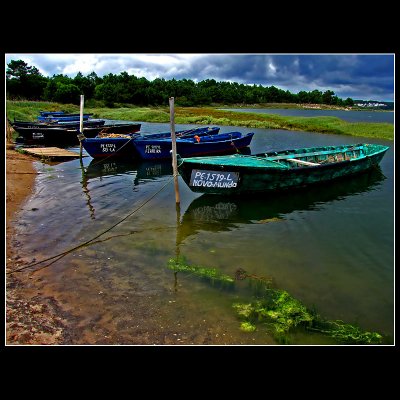
[[[181, 157], [196, 157], [216, 154], [232, 154], [248, 147], [254, 133], [243, 135], [241, 132], [219, 133], [176, 139], [176, 152]], [[163, 160], [172, 158], [172, 141], [170, 138], [140, 139], [132, 141], [140, 158], [143, 160]]]

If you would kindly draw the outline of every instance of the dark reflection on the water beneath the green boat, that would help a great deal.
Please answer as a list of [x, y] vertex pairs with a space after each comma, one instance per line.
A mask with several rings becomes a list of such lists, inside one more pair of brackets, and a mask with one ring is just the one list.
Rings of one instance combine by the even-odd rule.
[[268, 223], [294, 211], [315, 210], [327, 202], [375, 190], [385, 179], [378, 167], [335, 184], [316, 185], [290, 193], [256, 198], [204, 194], [193, 200], [184, 213], [178, 226], [177, 244], [200, 231], [230, 231], [238, 224]]

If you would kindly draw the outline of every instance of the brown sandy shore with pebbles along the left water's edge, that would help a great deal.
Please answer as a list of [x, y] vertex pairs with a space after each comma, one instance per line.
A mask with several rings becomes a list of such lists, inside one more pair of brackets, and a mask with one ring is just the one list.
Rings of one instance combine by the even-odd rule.
[[[23, 266], [15, 222], [35, 186], [32, 156], [6, 149], [6, 271]], [[66, 330], [54, 298], [38, 293], [26, 274], [6, 274], [6, 345], [54, 345], [66, 342]], [[29, 278], [28, 278], [29, 279]]]

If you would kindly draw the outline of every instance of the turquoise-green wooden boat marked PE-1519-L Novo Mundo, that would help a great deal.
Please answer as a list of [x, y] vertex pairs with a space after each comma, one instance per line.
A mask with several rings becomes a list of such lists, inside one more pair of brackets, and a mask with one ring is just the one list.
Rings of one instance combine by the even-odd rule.
[[178, 171], [193, 192], [245, 195], [334, 181], [377, 166], [379, 144], [310, 147], [254, 155], [181, 158]]

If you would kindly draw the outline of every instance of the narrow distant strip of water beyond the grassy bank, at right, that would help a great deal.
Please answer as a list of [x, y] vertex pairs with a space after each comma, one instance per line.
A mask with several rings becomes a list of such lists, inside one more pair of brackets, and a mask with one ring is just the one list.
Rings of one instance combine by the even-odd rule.
[[229, 108], [225, 110], [262, 114], [278, 114], [293, 117], [337, 117], [348, 122], [394, 123], [394, 111], [306, 110], [296, 108]]

